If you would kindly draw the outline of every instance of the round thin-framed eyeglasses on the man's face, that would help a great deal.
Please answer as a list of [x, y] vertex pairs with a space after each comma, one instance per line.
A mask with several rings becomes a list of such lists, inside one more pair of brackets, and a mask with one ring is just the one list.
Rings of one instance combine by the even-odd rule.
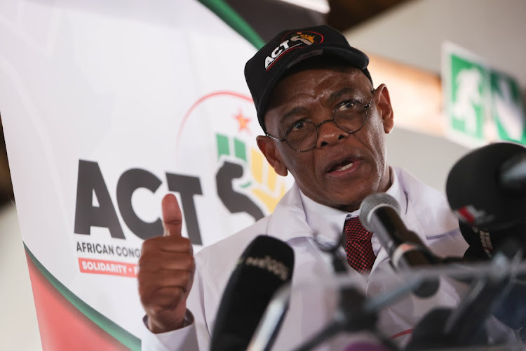
[[[375, 93], [373, 89], [372, 94]], [[335, 122], [338, 128], [342, 131], [352, 134], [359, 131], [367, 121], [367, 109], [371, 107], [371, 100], [367, 105], [358, 100], [348, 100], [338, 105], [332, 113], [332, 119], [321, 121], [318, 124], [313, 124], [309, 119], [300, 119], [295, 121], [291, 126], [285, 129], [285, 138], [279, 139], [265, 133], [269, 138], [276, 141], [286, 141], [287, 144], [296, 151], [305, 152], [312, 150], [318, 142], [318, 128], [325, 123]]]

